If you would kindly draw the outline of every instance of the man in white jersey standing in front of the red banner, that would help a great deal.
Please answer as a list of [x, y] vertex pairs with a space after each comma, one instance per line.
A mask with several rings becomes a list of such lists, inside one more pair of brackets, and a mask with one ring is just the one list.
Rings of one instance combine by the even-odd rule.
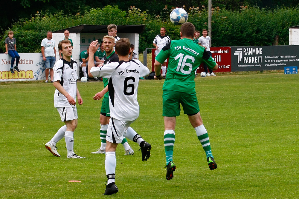
[[[156, 48], [155, 51], [155, 55], [157, 56], [159, 54], [159, 52], [162, 50], [162, 48], [168, 44], [170, 42], [170, 38], [169, 36], [165, 35], [166, 33], [166, 28], [165, 27], [161, 27], [160, 29], [160, 35], [155, 36], [154, 41], [152, 42], [152, 44], [154, 45], [154, 47]], [[165, 60], [162, 64], [162, 75], [163, 78], [166, 78], [166, 61]]]

